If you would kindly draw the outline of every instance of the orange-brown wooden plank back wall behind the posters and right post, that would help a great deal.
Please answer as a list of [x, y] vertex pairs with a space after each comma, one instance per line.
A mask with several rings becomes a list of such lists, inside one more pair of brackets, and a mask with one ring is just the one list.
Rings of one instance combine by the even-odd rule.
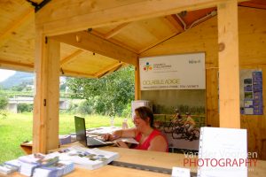
[[[239, 68], [262, 69], [263, 104], [266, 114], [266, 11], [239, 7]], [[217, 18], [208, 19], [200, 25], [160, 43], [141, 57], [206, 52], [207, 77], [207, 124], [219, 127], [218, 111], [218, 39]], [[189, 71], [188, 71], [189, 72]], [[266, 117], [241, 115], [241, 127], [247, 128], [248, 150], [258, 152], [266, 159]]]

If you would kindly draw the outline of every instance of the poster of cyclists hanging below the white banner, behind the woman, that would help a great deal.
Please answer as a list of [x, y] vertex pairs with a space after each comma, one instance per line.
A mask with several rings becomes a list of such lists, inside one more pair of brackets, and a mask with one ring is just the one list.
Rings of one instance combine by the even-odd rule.
[[200, 127], [206, 127], [206, 91], [144, 90], [153, 106], [154, 127], [168, 138], [171, 152], [199, 150]]

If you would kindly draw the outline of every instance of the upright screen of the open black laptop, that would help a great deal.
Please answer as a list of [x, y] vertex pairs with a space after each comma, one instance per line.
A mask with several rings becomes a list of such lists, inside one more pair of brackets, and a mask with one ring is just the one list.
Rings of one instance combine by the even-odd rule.
[[85, 119], [74, 116], [74, 127], [75, 127], [76, 140], [86, 146], [87, 140], [86, 140]]

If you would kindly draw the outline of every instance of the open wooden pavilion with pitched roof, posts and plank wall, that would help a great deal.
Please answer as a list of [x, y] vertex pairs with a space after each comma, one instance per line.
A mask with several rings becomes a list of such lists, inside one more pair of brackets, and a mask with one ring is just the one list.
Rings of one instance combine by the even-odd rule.
[[138, 58], [205, 52], [207, 124], [246, 128], [248, 150], [266, 159], [265, 116], [239, 112], [239, 69], [262, 69], [266, 91], [265, 1], [4, 0], [0, 5], [0, 67], [35, 73], [35, 152], [59, 145], [60, 75], [100, 78], [134, 65], [140, 99]]

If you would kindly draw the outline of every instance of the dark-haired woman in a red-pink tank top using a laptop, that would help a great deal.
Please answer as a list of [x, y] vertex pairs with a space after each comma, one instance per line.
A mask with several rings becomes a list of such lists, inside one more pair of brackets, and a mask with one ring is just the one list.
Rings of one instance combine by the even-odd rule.
[[[121, 137], [135, 138], [139, 144], [134, 145], [137, 150], [168, 151], [168, 142], [159, 130], [153, 127], [153, 112], [143, 106], [135, 110], [134, 128], [116, 130], [113, 134], [104, 135], [105, 140], [113, 141]], [[117, 142], [122, 148], [129, 148], [125, 142]]]

